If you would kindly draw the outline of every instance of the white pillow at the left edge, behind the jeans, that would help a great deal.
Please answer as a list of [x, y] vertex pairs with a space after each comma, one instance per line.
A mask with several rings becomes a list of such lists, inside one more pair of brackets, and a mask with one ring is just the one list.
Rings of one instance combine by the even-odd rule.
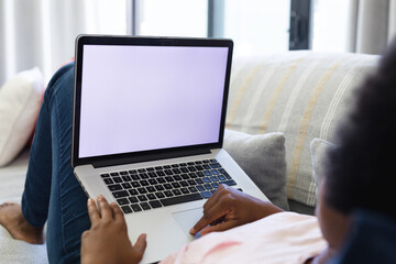
[[26, 145], [41, 108], [44, 78], [38, 68], [22, 72], [0, 88], [0, 166]]

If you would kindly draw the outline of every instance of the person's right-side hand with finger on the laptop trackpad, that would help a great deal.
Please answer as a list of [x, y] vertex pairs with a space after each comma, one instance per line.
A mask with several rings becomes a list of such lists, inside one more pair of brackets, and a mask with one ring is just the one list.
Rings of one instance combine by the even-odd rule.
[[190, 233], [196, 234], [201, 231], [201, 235], [205, 235], [213, 231], [224, 231], [279, 211], [283, 210], [268, 201], [260, 200], [227, 185], [220, 185], [204, 205], [204, 216]]

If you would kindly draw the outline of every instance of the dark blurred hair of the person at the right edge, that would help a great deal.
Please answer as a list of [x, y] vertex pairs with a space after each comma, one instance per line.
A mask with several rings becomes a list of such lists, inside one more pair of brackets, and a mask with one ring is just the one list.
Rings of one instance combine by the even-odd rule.
[[355, 96], [340, 145], [328, 153], [324, 199], [342, 213], [369, 209], [396, 220], [396, 38]]

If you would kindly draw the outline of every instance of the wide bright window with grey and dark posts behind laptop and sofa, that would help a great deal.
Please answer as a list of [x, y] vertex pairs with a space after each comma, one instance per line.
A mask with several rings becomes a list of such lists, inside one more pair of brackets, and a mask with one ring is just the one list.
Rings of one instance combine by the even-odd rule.
[[310, 7], [311, 0], [129, 0], [129, 32], [230, 37], [235, 56], [301, 50], [310, 47]]

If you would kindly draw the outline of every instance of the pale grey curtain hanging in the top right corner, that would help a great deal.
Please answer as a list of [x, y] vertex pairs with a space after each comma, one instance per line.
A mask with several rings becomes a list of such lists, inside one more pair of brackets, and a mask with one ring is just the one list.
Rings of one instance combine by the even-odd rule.
[[351, 0], [349, 52], [381, 54], [396, 36], [396, 0]]

